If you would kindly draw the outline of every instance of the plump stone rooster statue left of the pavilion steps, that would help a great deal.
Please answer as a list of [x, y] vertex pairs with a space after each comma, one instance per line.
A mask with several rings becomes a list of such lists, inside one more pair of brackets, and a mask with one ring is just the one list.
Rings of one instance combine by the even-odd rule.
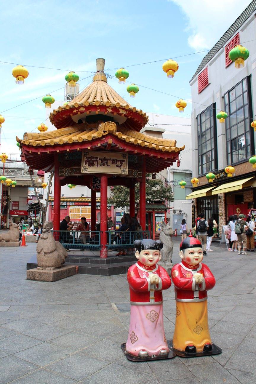
[[51, 228], [53, 228], [53, 223], [46, 221], [36, 246], [37, 269], [39, 270], [59, 268], [64, 264], [65, 258], [68, 256], [63, 245], [54, 240]]

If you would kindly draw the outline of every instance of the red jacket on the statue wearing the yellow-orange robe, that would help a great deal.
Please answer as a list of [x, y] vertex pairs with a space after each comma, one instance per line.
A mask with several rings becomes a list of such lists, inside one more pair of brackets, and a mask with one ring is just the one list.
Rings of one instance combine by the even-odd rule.
[[[203, 275], [201, 284], [195, 283], [194, 273]], [[177, 301], [198, 302], [207, 300], [207, 291], [215, 286], [215, 278], [207, 265], [188, 265], [183, 260], [172, 268], [172, 281], [175, 285]]]

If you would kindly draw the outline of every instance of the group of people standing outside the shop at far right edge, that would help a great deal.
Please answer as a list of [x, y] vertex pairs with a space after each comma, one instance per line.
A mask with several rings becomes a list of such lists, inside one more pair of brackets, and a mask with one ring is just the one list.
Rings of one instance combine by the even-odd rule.
[[244, 214], [231, 215], [228, 218], [227, 225], [225, 235], [229, 240], [229, 251], [243, 255], [246, 255], [246, 251], [255, 252], [254, 231], [256, 227], [255, 222], [251, 220], [251, 216], [246, 217]]

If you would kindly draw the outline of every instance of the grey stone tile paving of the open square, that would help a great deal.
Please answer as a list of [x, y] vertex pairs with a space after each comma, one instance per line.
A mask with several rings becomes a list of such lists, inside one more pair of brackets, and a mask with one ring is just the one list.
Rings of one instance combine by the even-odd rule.
[[[27, 281], [26, 262], [35, 247], [0, 248], [0, 384], [256, 382], [256, 253], [212, 245], [214, 252], [204, 258], [216, 277], [208, 314], [222, 354], [134, 363], [120, 348], [129, 327], [126, 305], [117, 308], [129, 303], [126, 275]], [[173, 287], [164, 299], [165, 333], [172, 338]]]

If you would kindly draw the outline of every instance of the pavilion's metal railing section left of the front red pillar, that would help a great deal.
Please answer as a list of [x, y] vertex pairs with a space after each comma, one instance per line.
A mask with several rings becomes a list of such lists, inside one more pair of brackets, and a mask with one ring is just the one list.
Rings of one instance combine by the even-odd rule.
[[56, 241], [61, 242], [64, 248], [79, 250], [100, 248], [99, 231], [53, 231], [53, 237]]

